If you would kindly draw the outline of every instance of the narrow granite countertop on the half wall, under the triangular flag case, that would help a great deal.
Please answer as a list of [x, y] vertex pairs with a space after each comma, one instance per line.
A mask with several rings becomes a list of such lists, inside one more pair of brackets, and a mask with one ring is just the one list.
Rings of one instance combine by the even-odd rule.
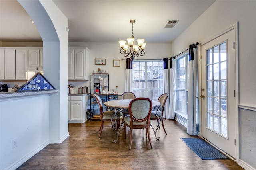
[[50, 94], [50, 93], [58, 93], [58, 90], [35, 90], [35, 91], [27, 91], [27, 92], [0, 92], [0, 98], [11, 98], [11, 97], [19, 97], [19, 96], [29, 96], [29, 95], [37, 95], [37, 94]]

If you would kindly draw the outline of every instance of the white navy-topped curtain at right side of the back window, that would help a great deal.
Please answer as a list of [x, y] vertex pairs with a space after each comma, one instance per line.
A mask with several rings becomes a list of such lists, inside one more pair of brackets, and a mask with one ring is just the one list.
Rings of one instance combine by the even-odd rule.
[[[168, 59], [164, 58], [163, 62], [164, 62], [164, 93], [169, 94]], [[165, 103], [165, 106], [164, 106], [163, 117], [168, 119], [168, 117], [169, 117], [168, 114], [169, 114], [169, 96], [166, 99], [166, 103]]]

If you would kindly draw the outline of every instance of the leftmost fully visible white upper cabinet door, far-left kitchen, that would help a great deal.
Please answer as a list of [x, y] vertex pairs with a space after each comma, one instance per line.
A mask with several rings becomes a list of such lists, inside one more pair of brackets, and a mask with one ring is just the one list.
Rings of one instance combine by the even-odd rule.
[[4, 50], [4, 80], [15, 80], [15, 49]]

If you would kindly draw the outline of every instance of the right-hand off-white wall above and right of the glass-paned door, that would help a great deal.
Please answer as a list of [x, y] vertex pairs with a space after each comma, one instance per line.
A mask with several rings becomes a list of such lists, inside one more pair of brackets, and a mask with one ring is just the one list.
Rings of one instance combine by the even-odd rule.
[[[243, 136], [240, 141], [244, 145], [240, 145], [240, 156], [244, 162], [256, 168], [256, 163], [253, 161], [256, 155], [256, 146], [254, 145], [256, 133], [250, 134], [243, 131], [246, 125], [251, 125], [249, 129], [255, 132], [256, 124], [250, 123], [255, 121], [253, 114], [256, 114], [256, 1], [254, 0], [238, 0], [224, 1], [217, 0], [206, 10], [196, 21], [194, 21], [178, 38], [172, 43], [174, 55], [188, 48], [188, 45], [195, 42], [203, 42], [206, 39], [217, 35], [221, 31], [227, 29], [237, 21], [239, 22], [239, 107], [244, 105], [246, 109], [254, 111], [240, 111], [242, 117], [240, 125], [243, 127], [240, 131], [240, 136]], [[246, 122], [248, 121], [248, 122]], [[244, 141], [245, 140], [245, 141]], [[250, 152], [248, 152], [250, 150]]]

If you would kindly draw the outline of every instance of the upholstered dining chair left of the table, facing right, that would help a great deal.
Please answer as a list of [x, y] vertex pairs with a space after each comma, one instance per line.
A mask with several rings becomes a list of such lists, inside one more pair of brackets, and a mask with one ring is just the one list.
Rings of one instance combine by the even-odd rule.
[[94, 98], [96, 98], [98, 106], [100, 107], [100, 120], [101, 120], [100, 134], [99, 134], [99, 138], [100, 138], [102, 129], [103, 129], [103, 125], [104, 125], [104, 121], [115, 121], [116, 120], [116, 127], [119, 128], [121, 114], [119, 111], [116, 113], [117, 116], [115, 116], [114, 111], [103, 112], [103, 103], [102, 103], [100, 96], [98, 96], [97, 94], [94, 94], [93, 96], [94, 96]]

